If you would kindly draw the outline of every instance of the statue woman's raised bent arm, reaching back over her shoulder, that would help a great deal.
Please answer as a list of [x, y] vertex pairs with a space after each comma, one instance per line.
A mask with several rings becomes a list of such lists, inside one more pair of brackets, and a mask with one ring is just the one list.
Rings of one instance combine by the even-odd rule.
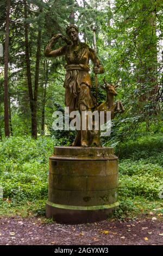
[[56, 34], [53, 36], [53, 38], [49, 41], [48, 45], [45, 48], [44, 54], [46, 57], [58, 57], [62, 56], [65, 54], [66, 51], [66, 46], [62, 46], [54, 51], [52, 51], [52, 46], [57, 41], [59, 38], [62, 38], [65, 42], [67, 42], [67, 39], [64, 35], [62, 34]]

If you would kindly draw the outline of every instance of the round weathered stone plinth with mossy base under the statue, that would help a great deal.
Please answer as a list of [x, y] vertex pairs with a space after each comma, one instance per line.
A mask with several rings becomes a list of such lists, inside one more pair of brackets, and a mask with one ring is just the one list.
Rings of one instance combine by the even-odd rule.
[[105, 220], [117, 202], [118, 158], [112, 148], [55, 147], [49, 157], [46, 216], [61, 223]]

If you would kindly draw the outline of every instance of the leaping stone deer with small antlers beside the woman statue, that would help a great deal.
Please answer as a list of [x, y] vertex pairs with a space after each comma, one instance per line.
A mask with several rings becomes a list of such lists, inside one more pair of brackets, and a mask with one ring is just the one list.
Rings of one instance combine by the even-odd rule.
[[105, 86], [101, 86], [103, 90], [106, 92], [106, 100], [98, 106], [98, 112], [104, 111], [105, 112], [105, 123], [106, 123], [106, 111], [111, 111], [111, 119], [115, 118], [117, 113], [123, 113], [124, 107], [121, 101], [114, 102], [114, 96], [117, 96], [116, 88], [117, 86], [113, 86], [112, 84], [108, 84], [105, 81]]

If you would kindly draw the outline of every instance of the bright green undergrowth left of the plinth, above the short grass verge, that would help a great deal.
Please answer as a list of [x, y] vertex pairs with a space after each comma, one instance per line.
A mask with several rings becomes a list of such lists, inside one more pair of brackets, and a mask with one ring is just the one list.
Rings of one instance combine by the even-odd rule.
[[0, 143], [0, 184], [3, 197], [22, 203], [48, 193], [48, 157], [55, 140], [40, 137], [12, 137]]

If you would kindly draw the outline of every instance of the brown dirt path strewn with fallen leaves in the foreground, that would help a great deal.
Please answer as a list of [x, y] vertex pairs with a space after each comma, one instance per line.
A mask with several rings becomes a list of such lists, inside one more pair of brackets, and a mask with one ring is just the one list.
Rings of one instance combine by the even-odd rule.
[[40, 218], [0, 218], [0, 245], [163, 245], [161, 220], [64, 225]]

